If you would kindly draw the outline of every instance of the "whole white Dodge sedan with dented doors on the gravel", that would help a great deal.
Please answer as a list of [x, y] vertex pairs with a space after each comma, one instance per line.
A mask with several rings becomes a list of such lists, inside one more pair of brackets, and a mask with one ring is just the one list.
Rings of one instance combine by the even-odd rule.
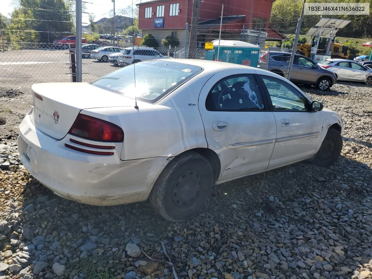
[[203, 60], [151, 60], [91, 83], [32, 86], [19, 126], [23, 165], [90, 205], [149, 198], [185, 220], [212, 185], [308, 160], [333, 164], [341, 117], [277, 74]]

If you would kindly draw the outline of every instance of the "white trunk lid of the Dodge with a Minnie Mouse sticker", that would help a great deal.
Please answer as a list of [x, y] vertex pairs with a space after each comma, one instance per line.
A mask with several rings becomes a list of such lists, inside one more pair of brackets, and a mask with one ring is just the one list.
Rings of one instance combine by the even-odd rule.
[[83, 109], [134, 106], [134, 100], [88, 83], [39, 83], [32, 85], [31, 121], [57, 140], [65, 137]]

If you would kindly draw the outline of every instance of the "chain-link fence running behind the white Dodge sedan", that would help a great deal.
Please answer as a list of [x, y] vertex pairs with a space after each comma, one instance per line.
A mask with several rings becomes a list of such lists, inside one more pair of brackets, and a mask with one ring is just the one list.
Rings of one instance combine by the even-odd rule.
[[[32, 106], [32, 84], [73, 80], [76, 67], [75, 61], [71, 61], [74, 58], [71, 51], [73, 47], [66, 44], [0, 42], [0, 138], [17, 134], [20, 121]], [[119, 41], [119, 45], [95, 41], [83, 44], [82, 80], [93, 81], [119, 67], [158, 58], [218, 60], [254, 67], [259, 63], [258, 58], [242, 60], [240, 54], [221, 51], [217, 57], [217, 52], [202, 48], [133, 47], [131, 42], [124, 40]]]

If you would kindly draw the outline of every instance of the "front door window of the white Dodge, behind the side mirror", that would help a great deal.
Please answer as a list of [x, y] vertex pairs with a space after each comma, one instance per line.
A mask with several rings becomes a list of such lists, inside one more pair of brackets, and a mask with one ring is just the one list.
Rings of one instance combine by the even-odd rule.
[[274, 110], [302, 110], [307, 111], [307, 99], [294, 87], [278, 78], [262, 76], [269, 92]]

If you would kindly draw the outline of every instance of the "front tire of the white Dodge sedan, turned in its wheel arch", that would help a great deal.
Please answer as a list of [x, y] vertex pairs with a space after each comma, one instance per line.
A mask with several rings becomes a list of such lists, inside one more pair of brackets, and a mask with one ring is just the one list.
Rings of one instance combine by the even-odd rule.
[[337, 161], [342, 150], [342, 137], [335, 129], [330, 128], [325, 135], [322, 145], [310, 161], [311, 164], [318, 167], [329, 167]]

